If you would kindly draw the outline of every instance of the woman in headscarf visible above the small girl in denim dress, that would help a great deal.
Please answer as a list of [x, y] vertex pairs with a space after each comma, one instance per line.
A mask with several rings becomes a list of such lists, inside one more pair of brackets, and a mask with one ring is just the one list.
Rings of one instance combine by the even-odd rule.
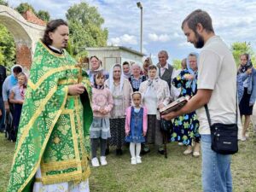
[[141, 72], [142, 69], [138, 64], [135, 63], [131, 66], [131, 78], [129, 78], [129, 81], [133, 91], [138, 91], [140, 84], [146, 80], [146, 77]]

